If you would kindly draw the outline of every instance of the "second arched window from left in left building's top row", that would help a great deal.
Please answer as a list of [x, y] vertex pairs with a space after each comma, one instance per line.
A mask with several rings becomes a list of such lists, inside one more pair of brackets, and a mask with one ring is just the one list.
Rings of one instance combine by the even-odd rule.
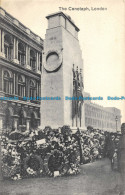
[[23, 43], [18, 44], [18, 60], [21, 65], [25, 64], [25, 46]]

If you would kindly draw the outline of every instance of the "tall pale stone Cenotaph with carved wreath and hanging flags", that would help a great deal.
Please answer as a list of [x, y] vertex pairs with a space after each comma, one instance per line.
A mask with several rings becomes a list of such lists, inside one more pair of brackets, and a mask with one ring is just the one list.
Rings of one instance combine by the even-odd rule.
[[69, 125], [73, 129], [85, 129], [79, 28], [63, 12], [46, 18], [48, 29], [44, 40], [41, 75], [41, 97], [46, 99], [41, 100], [41, 127]]

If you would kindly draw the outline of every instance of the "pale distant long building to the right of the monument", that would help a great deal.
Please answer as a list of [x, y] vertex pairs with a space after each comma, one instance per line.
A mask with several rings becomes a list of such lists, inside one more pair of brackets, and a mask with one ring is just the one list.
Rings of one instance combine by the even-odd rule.
[[[90, 97], [89, 93], [84, 93]], [[105, 131], [121, 131], [121, 111], [115, 107], [103, 107], [85, 100], [85, 125]]]

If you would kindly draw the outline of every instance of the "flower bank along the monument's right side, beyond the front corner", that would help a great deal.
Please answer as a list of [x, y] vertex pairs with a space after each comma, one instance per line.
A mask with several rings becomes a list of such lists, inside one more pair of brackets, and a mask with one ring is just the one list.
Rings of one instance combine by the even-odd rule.
[[103, 130], [88, 129], [76, 132], [80, 139], [83, 164], [93, 162], [104, 157], [105, 134]]

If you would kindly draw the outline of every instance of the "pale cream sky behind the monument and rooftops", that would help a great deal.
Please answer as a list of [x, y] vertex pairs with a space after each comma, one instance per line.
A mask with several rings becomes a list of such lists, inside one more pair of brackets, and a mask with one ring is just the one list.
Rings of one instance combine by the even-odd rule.
[[[84, 90], [104, 100], [95, 103], [121, 109], [125, 122], [125, 100], [107, 100], [107, 96], [125, 97], [125, 0], [0, 0], [13, 17], [45, 37], [46, 16], [61, 10], [80, 28], [78, 35], [84, 61]], [[90, 11], [70, 11], [68, 8]], [[107, 10], [92, 11], [94, 8]]]

